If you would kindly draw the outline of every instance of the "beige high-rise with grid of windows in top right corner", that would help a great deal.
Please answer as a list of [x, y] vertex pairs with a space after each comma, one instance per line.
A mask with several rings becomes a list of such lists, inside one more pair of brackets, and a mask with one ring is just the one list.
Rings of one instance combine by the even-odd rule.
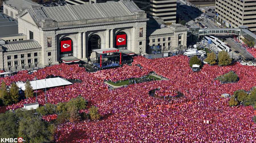
[[245, 25], [256, 31], [256, 1], [252, 0], [216, 0], [215, 17], [226, 27], [237, 28]]

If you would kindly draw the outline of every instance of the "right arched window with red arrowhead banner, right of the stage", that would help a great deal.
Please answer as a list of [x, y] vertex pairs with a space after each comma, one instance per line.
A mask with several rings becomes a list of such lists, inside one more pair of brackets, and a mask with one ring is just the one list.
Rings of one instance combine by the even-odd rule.
[[115, 36], [115, 48], [119, 50], [127, 49], [127, 34], [123, 31]]

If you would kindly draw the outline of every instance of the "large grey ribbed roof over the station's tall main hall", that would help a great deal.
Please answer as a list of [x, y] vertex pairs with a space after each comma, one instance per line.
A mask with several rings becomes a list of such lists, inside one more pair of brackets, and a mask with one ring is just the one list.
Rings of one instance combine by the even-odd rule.
[[[139, 7], [130, 0], [120, 0], [109, 3], [93, 3], [84, 5], [66, 5], [41, 7], [32, 6], [28, 10], [35, 23], [40, 26], [42, 19], [48, 19], [56, 22], [67, 22], [65, 25], [73, 25], [72, 22], [87, 19], [103, 19], [113, 17], [125, 17], [135, 15], [135, 12], [143, 12]], [[20, 14], [22, 16], [22, 14]], [[146, 18], [146, 16], [145, 16]], [[120, 19], [120, 18], [118, 18]], [[114, 19], [114, 20], [118, 20]], [[71, 22], [72, 21], [72, 22]], [[96, 23], [94, 21], [93, 23]], [[80, 23], [81, 24], [81, 23]]]

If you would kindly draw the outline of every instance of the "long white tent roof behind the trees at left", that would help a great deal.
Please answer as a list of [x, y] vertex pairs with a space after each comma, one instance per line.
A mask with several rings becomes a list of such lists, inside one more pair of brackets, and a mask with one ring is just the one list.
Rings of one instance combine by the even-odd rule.
[[[43, 88], [49, 88], [49, 87], [56, 87], [56, 86], [63, 86], [63, 85], [69, 85], [72, 84], [67, 79], [55, 77], [55, 78], [49, 78], [49, 79], [41, 79], [36, 81], [30, 81], [30, 84], [34, 90], [36, 89], [43, 89]], [[22, 90], [25, 90], [25, 83], [18, 84], [18, 87]]]

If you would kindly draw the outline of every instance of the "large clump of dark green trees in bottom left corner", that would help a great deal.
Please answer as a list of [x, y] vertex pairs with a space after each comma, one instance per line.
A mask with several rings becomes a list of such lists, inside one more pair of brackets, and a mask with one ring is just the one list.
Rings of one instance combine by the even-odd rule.
[[5, 138], [22, 137], [26, 142], [52, 142], [55, 125], [43, 122], [34, 111], [17, 109], [0, 114], [0, 136]]

